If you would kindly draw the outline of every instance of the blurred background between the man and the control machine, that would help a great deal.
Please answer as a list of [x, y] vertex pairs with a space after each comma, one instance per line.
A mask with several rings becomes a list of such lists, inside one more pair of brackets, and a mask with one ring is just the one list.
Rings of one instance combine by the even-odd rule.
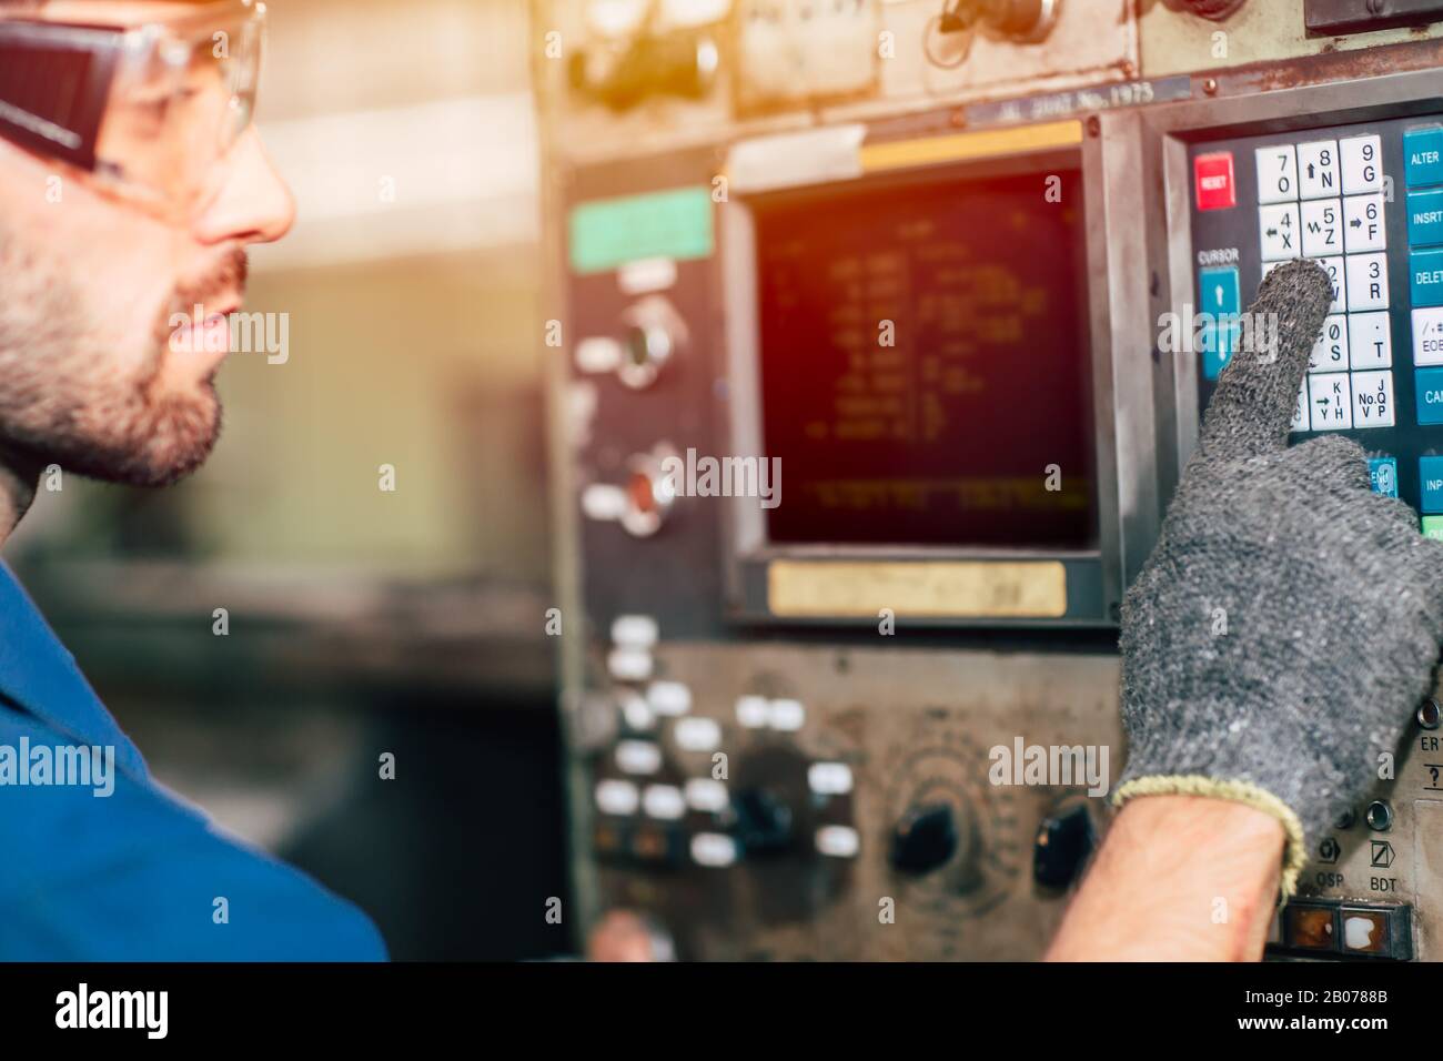
[[289, 357], [231, 355], [193, 478], [66, 478], [7, 549], [154, 774], [400, 959], [574, 946], [544, 917], [569, 883], [527, 14], [271, 0], [258, 124], [299, 221], [247, 310], [289, 315]]

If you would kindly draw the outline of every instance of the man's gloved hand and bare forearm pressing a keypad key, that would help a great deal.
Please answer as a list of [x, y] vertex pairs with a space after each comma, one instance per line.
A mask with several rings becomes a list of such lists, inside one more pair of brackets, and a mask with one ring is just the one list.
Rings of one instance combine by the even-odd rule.
[[1443, 544], [1369, 489], [1356, 442], [1287, 447], [1330, 300], [1313, 263], [1268, 274], [1248, 315], [1273, 342], [1224, 370], [1127, 592], [1127, 805], [1052, 957], [1258, 957], [1258, 911], [1433, 686]]

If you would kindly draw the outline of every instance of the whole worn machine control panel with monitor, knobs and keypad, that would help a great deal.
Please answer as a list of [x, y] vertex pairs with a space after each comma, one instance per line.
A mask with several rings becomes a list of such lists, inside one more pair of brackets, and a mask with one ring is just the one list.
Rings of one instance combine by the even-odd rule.
[[[1126, 762], [1117, 605], [1264, 270], [1336, 277], [1294, 439], [1443, 517], [1443, 48], [1302, 0], [543, 9], [583, 918], [1039, 956]], [[1271, 954], [1443, 957], [1436, 728]]]

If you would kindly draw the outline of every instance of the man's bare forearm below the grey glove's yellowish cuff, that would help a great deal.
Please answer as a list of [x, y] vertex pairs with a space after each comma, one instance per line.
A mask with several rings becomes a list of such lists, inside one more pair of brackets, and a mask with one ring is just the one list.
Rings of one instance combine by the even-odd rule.
[[1149, 795], [1118, 814], [1049, 961], [1254, 961], [1283, 827], [1228, 800]]

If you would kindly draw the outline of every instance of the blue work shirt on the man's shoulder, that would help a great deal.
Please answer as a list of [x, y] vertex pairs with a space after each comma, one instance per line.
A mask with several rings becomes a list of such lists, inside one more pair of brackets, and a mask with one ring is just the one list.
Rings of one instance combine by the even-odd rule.
[[[61, 755], [36, 749], [56, 748], [113, 748], [110, 782], [53, 784]], [[65, 778], [81, 775], [72, 761]], [[0, 960], [384, 959], [355, 907], [221, 834], [150, 777], [0, 564]]]

